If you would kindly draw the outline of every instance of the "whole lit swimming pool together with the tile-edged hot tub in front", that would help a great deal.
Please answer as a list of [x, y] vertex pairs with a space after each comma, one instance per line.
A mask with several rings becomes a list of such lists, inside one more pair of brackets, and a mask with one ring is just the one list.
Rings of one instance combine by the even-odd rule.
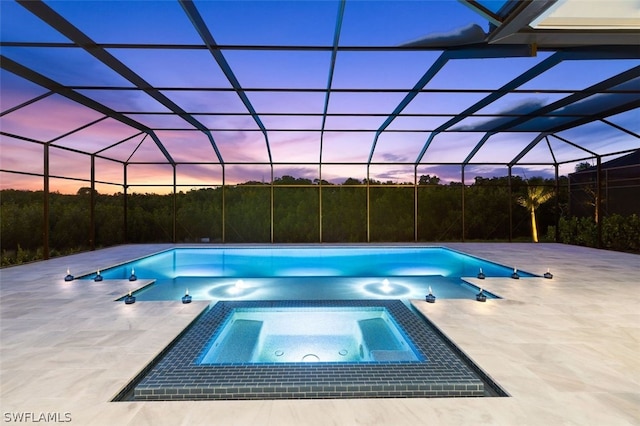
[[475, 299], [462, 277], [480, 270], [513, 272], [398, 246], [175, 248], [109, 268], [135, 273], [139, 301], [211, 301], [116, 400], [505, 396], [410, 302]]

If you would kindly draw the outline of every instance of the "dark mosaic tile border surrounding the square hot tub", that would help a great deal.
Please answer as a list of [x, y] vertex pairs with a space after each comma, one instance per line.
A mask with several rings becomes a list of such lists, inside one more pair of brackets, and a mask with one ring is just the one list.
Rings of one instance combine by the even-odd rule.
[[[197, 364], [235, 308], [383, 307], [426, 361]], [[398, 300], [218, 302], [137, 385], [133, 399], [247, 400], [484, 396], [484, 383], [431, 328]]]

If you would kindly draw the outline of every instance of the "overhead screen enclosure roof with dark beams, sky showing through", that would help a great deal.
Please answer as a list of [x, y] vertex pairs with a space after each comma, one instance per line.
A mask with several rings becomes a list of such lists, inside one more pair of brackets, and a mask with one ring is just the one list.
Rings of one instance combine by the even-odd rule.
[[535, 169], [640, 148], [636, 0], [3, 0], [0, 11], [3, 170], [28, 168], [15, 152], [35, 143], [226, 169], [228, 183], [370, 170], [412, 182], [436, 165]]

